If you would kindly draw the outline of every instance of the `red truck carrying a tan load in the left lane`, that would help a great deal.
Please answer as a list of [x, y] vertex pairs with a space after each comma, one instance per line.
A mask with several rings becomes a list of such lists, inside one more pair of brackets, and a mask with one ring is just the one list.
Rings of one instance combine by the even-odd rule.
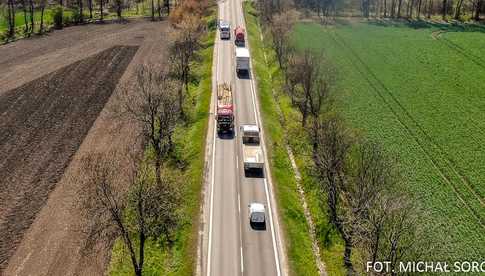
[[217, 86], [217, 132], [232, 132], [234, 130], [234, 106], [232, 103], [231, 86], [227, 83]]

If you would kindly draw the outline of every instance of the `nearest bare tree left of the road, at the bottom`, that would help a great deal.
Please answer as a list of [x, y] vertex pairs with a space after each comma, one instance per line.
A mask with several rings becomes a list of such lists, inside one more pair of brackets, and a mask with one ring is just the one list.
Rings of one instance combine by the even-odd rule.
[[[87, 189], [82, 199], [83, 211], [91, 229], [88, 241], [121, 237], [134, 274], [141, 276], [147, 240], [157, 240], [160, 236], [172, 240], [180, 195], [176, 178], [164, 174], [162, 181], [156, 184], [151, 181], [147, 166], [136, 165], [139, 160], [131, 160], [128, 168], [120, 168], [120, 158], [131, 157], [111, 152], [108, 156], [93, 154], [81, 161]], [[125, 186], [116, 173], [119, 170], [129, 179], [128, 192], [119, 189]]]

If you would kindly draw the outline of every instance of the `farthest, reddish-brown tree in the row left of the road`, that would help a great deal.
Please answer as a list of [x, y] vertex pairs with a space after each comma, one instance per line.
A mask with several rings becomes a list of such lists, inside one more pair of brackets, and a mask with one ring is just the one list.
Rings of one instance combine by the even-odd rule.
[[170, 49], [171, 73], [183, 84], [178, 91], [178, 104], [182, 118], [184, 113], [184, 89], [189, 92], [190, 62], [194, 58], [195, 50], [199, 47], [199, 39], [203, 32], [203, 25], [197, 16], [184, 16], [182, 22], [176, 25], [177, 34]]

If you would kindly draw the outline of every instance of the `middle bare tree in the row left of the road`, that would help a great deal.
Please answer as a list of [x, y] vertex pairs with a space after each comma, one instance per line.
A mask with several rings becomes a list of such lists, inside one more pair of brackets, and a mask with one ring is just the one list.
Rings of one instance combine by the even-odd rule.
[[142, 127], [144, 141], [155, 152], [157, 182], [164, 158], [173, 148], [172, 136], [177, 123], [179, 106], [177, 92], [180, 85], [161, 68], [141, 65], [136, 71], [135, 91], [123, 89], [120, 93], [121, 112]]

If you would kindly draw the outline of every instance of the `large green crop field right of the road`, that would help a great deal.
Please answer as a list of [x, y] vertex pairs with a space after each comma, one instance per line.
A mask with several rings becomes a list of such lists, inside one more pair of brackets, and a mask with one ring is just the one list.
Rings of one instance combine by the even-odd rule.
[[337, 108], [395, 154], [433, 260], [485, 255], [485, 33], [478, 27], [301, 23], [294, 43], [338, 68]]

